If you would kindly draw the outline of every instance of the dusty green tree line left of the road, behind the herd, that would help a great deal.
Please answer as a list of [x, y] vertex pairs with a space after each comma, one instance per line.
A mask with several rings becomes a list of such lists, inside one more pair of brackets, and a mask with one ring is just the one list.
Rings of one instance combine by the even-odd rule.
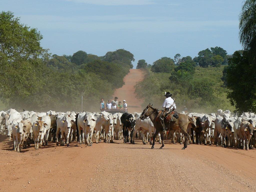
[[0, 13], [0, 98], [8, 108], [95, 110], [111, 97], [133, 68], [134, 56], [118, 49], [104, 56], [77, 51], [51, 55], [40, 46], [40, 31], [21, 24], [12, 12]]

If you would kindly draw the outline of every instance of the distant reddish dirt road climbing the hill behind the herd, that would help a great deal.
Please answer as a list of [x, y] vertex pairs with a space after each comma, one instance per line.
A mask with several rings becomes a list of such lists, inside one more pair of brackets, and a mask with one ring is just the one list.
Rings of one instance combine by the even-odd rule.
[[137, 99], [134, 94], [134, 86], [136, 82], [142, 81], [144, 79], [145, 72], [141, 69], [130, 69], [130, 73], [128, 73], [124, 77], [124, 85], [123, 87], [116, 89], [113, 95], [114, 97], [118, 97], [118, 101], [121, 101], [123, 104], [123, 100], [127, 103], [127, 109], [129, 113], [133, 112], [141, 112], [141, 103], [142, 100]]

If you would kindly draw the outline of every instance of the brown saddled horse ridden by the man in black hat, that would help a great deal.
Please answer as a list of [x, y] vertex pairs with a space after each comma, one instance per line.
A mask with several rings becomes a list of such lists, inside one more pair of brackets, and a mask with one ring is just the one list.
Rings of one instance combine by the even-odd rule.
[[[152, 107], [151, 104], [148, 104], [148, 106], [143, 110], [140, 119], [144, 120], [146, 118], [150, 118], [151, 121], [154, 124], [154, 127], [156, 129], [156, 132], [154, 133], [153, 136], [153, 144], [151, 149], [154, 149], [154, 145], [155, 145], [155, 138], [156, 135], [158, 135], [158, 133], [160, 132], [161, 135], [161, 139], [162, 139], [162, 146], [159, 149], [162, 149], [164, 147], [164, 134], [163, 134], [163, 125], [160, 122], [159, 118], [158, 118], [158, 109], [154, 109]], [[182, 149], [187, 148], [188, 146], [188, 133], [187, 133], [187, 127], [188, 127], [188, 123], [189, 123], [189, 119], [188, 116], [185, 114], [179, 114], [179, 118], [177, 119], [177, 121], [165, 121], [165, 127], [168, 127], [167, 131], [172, 131], [172, 130], [177, 130], [180, 129], [185, 137], [185, 141], [184, 141], [184, 147]]]

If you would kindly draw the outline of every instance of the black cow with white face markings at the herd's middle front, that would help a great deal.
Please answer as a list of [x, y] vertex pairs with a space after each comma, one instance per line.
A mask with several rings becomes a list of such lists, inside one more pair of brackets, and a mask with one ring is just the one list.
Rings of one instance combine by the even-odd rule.
[[121, 122], [123, 124], [123, 136], [124, 136], [124, 143], [129, 142], [129, 133], [128, 130], [131, 131], [131, 144], [135, 144], [134, 141], [132, 141], [132, 135], [135, 127], [135, 118], [130, 113], [124, 113], [121, 116]]

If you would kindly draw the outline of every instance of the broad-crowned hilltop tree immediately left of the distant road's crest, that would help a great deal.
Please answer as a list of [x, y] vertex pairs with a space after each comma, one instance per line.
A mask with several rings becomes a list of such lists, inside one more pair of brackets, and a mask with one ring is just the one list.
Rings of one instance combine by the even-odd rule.
[[135, 61], [133, 54], [124, 49], [107, 52], [106, 55], [103, 56], [103, 60], [114, 63], [121, 62], [120, 64], [123, 65], [123, 67], [128, 67], [129, 69], [133, 68], [132, 61]]

